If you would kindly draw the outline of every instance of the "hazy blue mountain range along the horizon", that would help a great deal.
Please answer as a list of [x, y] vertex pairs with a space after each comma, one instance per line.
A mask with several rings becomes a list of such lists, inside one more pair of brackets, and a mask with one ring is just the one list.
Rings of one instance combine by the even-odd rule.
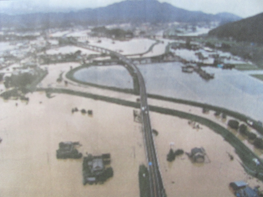
[[157, 0], [126, 0], [106, 7], [84, 9], [68, 13], [31, 13], [20, 15], [0, 14], [1, 26], [17, 28], [64, 27], [72, 25], [97, 25], [141, 22], [229, 22], [241, 19], [230, 14], [206, 14], [188, 11]]

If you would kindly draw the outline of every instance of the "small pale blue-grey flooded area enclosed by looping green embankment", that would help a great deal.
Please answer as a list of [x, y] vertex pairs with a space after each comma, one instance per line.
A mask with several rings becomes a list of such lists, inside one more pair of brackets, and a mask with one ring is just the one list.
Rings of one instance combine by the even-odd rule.
[[77, 70], [73, 76], [81, 82], [115, 88], [133, 88], [132, 76], [127, 69], [121, 65], [90, 66]]

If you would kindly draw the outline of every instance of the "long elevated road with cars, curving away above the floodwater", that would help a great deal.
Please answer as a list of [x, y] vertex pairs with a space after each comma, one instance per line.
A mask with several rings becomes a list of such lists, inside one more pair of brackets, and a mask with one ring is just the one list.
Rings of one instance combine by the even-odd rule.
[[149, 106], [147, 104], [147, 94], [144, 79], [140, 70], [132, 63], [132, 61], [125, 56], [97, 46], [86, 45], [82, 43], [75, 43], [76, 46], [87, 48], [89, 50], [95, 50], [108, 55], [116, 56], [119, 61], [127, 67], [133, 69], [134, 74], [137, 75], [139, 86], [140, 86], [140, 102], [141, 102], [141, 116], [142, 116], [142, 129], [144, 132], [145, 148], [148, 160], [148, 170], [149, 170], [149, 183], [150, 183], [150, 192], [151, 197], [166, 197], [161, 173], [159, 171], [159, 163], [157, 160], [155, 144], [153, 140], [153, 133], [151, 129], [151, 122], [149, 117]]

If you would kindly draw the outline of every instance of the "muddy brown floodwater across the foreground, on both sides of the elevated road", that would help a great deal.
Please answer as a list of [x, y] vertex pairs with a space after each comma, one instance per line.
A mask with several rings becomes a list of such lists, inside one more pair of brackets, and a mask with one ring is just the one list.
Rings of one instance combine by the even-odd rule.
[[[28, 104], [0, 99], [2, 196], [140, 195], [138, 169], [146, 158], [141, 124], [133, 122], [132, 107], [66, 94], [54, 94], [52, 99], [44, 92], [28, 96]], [[74, 107], [92, 109], [93, 116], [72, 114]], [[204, 125], [193, 129], [188, 120], [155, 112], [150, 118], [152, 128], [159, 132], [155, 144], [167, 196], [234, 196], [228, 185], [238, 180], [263, 188], [261, 181], [244, 171], [234, 148], [213, 130]], [[113, 178], [103, 185], [83, 186], [82, 159], [56, 158], [61, 141], [80, 141], [78, 150], [84, 155], [110, 153]], [[194, 164], [184, 154], [169, 163], [170, 147], [186, 152], [204, 147], [208, 159]]]

